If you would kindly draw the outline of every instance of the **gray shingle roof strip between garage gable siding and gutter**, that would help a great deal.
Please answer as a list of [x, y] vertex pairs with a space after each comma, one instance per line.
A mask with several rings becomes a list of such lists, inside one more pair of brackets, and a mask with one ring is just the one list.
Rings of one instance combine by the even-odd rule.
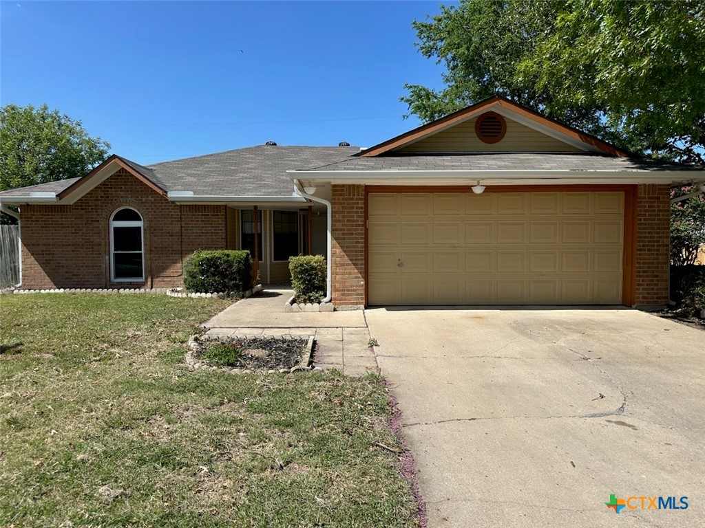
[[703, 170], [692, 165], [593, 153], [401, 154], [347, 158], [311, 170]]

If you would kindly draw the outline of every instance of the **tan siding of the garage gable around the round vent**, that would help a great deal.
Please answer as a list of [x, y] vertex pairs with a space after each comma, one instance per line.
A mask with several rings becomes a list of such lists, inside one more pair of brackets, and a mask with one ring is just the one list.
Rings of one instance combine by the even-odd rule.
[[487, 144], [475, 134], [476, 120], [458, 123], [404, 146], [398, 152], [580, 152], [575, 146], [507, 118], [505, 136], [497, 143]]

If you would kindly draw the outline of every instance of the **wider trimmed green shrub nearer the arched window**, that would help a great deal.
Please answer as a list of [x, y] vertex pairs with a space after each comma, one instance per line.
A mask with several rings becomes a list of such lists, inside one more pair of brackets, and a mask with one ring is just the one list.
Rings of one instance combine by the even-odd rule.
[[194, 251], [184, 265], [183, 285], [204, 293], [243, 293], [252, 285], [250, 251]]

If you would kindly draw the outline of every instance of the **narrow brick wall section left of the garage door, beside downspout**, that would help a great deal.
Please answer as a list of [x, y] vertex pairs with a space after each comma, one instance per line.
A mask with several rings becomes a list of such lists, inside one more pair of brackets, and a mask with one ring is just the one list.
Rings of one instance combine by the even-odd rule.
[[331, 286], [336, 306], [364, 304], [364, 185], [333, 185]]

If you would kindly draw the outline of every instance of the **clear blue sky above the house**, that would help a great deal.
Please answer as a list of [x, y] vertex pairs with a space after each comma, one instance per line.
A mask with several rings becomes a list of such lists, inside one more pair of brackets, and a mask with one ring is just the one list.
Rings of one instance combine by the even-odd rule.
[[1, 1], [0, 103], [47, 103], [139, 163], [263, 144], [370, 146], [439, 87], [435, 1]]

